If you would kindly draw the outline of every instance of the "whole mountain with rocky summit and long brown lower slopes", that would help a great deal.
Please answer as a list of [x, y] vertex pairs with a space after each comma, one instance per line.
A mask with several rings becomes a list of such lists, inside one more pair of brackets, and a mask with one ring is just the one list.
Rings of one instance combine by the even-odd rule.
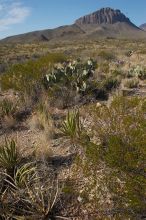
[[146, 38], [145, 31], [134, 25], [120, 10], [102, 8], [85, 15], [74, 24], [7, 37], [1, 43], [33, 43], [97, 38]]

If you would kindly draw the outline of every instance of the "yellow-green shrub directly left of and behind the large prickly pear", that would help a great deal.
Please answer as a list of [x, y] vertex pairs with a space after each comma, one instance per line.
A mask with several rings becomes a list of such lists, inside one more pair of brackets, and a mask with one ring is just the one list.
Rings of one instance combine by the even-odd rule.
[[38, 60], [14, 64], [0, 77], [2, 90], [29, 91], [54, 63], [65, 61], [62, 54], [48, 54]]

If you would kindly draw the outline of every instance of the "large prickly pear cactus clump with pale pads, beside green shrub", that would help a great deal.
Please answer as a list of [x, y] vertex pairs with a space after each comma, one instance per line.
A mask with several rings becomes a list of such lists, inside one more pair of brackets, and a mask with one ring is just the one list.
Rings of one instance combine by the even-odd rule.
[[89, 59], [82, 63], [80, 59], [55, 65], [44, 77], [44, 85], [50, 88], [53, 85], [71, 86], [77, 92], [85, 92], [88, 80], [94, 75], [96, 63]]

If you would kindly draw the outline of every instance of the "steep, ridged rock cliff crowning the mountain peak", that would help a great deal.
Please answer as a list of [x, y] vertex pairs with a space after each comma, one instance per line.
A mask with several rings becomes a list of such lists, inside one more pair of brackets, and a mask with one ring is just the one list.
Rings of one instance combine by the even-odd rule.
[[78, 20], [76, 24], [114, 24], [116, 22], [126, 22], [131, 23], [129, 18], [127, 18], [120, 10], [114, 10], [111, 8], [102, 8], [92, 14], [85, 15]]

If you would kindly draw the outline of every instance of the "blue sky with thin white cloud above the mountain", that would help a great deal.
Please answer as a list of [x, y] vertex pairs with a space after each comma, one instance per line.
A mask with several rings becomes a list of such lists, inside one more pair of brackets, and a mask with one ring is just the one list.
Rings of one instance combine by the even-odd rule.
[[102, 7], [120, 9], [138, 26], [146, 23], [146, 0], [0, 0], [0, 38], [72, 24]]

